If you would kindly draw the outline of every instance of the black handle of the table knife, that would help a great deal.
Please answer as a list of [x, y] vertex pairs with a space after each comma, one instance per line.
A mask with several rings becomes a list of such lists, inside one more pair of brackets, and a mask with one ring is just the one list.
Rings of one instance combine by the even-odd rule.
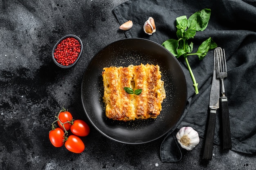
[[217, 110], [211, 109], [204, 143], [203, 159], [211, 160]]

